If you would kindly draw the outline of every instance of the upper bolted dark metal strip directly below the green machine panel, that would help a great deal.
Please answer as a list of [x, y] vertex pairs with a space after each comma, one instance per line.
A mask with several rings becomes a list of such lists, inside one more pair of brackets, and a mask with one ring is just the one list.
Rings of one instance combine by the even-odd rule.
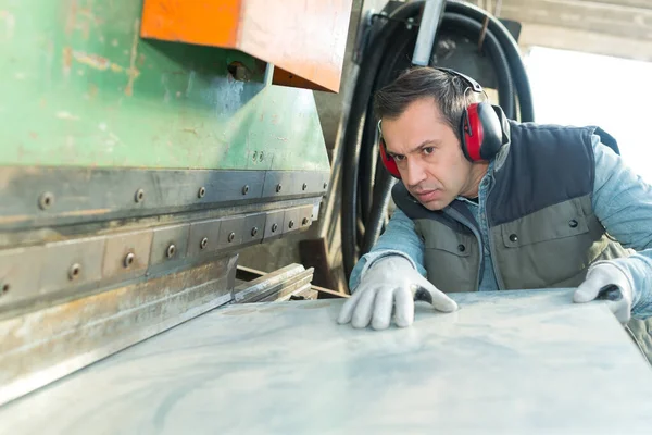
[[5, 167], [0, 172], [0, 185], [5, 186], [0, 189], [0, 228], [316, 197], [326, 192], [328, 179], [328, 172], [311, 171]]

